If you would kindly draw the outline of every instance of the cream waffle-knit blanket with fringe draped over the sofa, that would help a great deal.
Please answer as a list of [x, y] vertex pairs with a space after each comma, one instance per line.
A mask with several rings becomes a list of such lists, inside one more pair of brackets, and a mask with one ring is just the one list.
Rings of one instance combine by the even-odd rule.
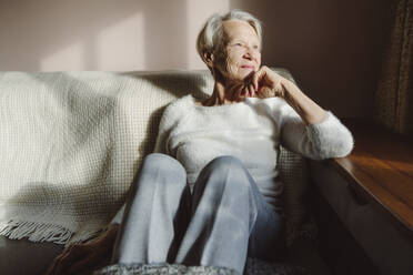
[[101, 230], [152, 150], [161, 108], [206, 82], [206, 72], [0, 73], [0, 234], [67, 243]]

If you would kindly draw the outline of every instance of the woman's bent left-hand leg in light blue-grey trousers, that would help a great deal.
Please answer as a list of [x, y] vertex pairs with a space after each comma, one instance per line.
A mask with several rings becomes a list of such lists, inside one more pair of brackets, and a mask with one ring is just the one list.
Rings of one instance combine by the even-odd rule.
[[164, 154], [148, 155], [131, 186], [112, 263], [167, 262], [175, 231], [182, 231], [175, 218], [189, 198], [182, 165]]

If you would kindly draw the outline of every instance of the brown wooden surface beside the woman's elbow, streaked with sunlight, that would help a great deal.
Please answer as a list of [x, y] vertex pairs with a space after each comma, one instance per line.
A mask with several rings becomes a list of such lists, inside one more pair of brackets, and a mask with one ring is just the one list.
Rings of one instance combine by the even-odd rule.
[[343, 120], [354, 150], [330, 163], [346, 176], [360, 200], [373, 202], [413, 240], [413, 136], [360, 120]]

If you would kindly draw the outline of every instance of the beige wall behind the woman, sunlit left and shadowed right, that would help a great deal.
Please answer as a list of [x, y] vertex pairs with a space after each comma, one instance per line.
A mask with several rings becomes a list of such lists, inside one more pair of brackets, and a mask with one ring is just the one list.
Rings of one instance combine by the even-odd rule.
[[[239, 8], [264, 23], [263, 61], [340, 116], [369, 116], [389, 0], [0, 0], [0, 70], [204, 69], [204, 20]], [[384, 30], [383, 30], [384, 29]]]

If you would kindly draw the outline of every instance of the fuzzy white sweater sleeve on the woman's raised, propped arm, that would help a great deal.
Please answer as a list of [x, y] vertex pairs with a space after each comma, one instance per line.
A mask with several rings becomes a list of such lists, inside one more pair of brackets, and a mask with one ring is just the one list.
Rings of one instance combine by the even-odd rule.
[[342, 157], [353, 149], [351, 132], [330, 111], [316, 124], [306, 125], [289, 106], [281, 123], [281, 144], [286, 149], [313, 160]]

